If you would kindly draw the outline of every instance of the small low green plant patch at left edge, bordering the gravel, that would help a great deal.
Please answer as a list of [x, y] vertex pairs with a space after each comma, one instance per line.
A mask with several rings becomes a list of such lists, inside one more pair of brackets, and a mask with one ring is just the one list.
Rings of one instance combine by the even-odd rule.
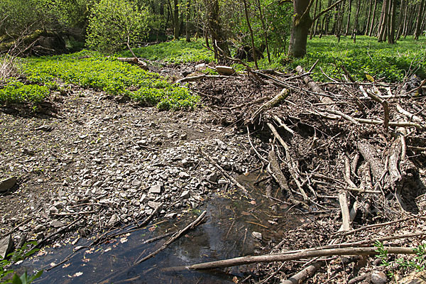
[[23, 84], [18, 80], [11, 79], [6, 87], [0, 89], [1, 103], [38, 103], [49, 95], [49, 87], [38, 84]]

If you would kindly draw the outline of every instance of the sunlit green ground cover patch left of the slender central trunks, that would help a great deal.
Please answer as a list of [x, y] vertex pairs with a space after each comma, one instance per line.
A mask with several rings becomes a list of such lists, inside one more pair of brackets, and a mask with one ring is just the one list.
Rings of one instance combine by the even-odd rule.
[[[202, 40], [171, 40], [166, 43], [149, 45], [145, 48], [135, 48], [136, 56], [150, 60], [161, 60], [170, 63], [212, 62], [214, 54], [202, 46]], [[129, 51], [120, 53], [122, 56], [131, 56]]]

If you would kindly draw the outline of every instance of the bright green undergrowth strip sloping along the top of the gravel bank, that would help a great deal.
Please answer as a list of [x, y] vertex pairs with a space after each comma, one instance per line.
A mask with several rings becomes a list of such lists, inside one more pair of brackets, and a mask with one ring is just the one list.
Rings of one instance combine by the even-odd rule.
[[199, 100], [185, 87], [170, 84], [156, 73], [87, 50], [70, 55], [29, 58], [23, 62], [22, 71], [33, 83], [48, 87], [59, 81], [75, 84], [130, 97], [159, 109], [189, 109]]

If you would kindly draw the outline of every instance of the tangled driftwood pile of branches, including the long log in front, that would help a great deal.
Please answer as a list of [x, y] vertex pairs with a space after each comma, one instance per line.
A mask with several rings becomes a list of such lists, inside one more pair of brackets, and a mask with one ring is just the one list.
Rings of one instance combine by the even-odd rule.
[[[420, 244], [416, 240], [426, 234], [422, 217], [426, 194], [426, 80], [411, 77], [403, 84], [352, 82], [346, 72], [346, 80], [330, 78], [331, 82], [318, 83], [302, 67], [296, 71], [284, 75], [247, 67], [245, 74], [200, 76], [185, 82], [191, 82], [189, 87], [204, 99], [219, 123], [248, 133], [253, 155], [280, 187], [280, 198], [306, 214], [337, 213], [334, 224], [319, 229], [321, 241], [308, 240], [302, 248], [314, 249], [316, 244], [332, 251], [317, 251], [312, 257], [342, 255], [337, 251], [343, 247], [346, 255], [375, 254], [371, 248], [375, 241], [392, 246], [395, 239], [409, 239], [409, 244]], [[261, 146], [252, 143], [255, 139]], [[312, 218], [319, 220], [320, 215]], [[407, 231], [410, 234], [403, 234]], [[285, 244], [285, 239], [281, 243]], [[281, 253], [282, 244], [275, 247]], [[398, 253], [396, 248], [391, 250]], [[288, 261], [308, 258], [306, 251], [294, 258], [285, 252], [281, 256], [259, 256], [256, 260], [246, 257], [189, 268]], [[353, 261], [359, 262], [356, 259]], [[312, 276], [324, 266], [324, 260], [316, 258], [303, 266], [302, 278]], [[269, 267], [275, 271], [273, 275], [279, 275], [283, 266]], [[293, 270], [294, 274], [294, 269], [288, 266], [288, 273]], [[367, 278], [356, 273], [351, 277], [351, 283]]]

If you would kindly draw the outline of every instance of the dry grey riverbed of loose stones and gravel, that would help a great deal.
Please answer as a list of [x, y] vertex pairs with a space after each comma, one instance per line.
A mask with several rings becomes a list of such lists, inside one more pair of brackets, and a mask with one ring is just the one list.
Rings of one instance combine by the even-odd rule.
[[54, 101], [50, 116], [0, 111], [0, 180], [16, 178], [1, 194], [0, 234], [16, 243], [101, 233], [159, 206], [167, 218], [199, 206], [229, 183], [199, 148], [230, 173], [256, 167], [246, 135], [212, 124], [203, 109], [158, 111], [84, 89]]

